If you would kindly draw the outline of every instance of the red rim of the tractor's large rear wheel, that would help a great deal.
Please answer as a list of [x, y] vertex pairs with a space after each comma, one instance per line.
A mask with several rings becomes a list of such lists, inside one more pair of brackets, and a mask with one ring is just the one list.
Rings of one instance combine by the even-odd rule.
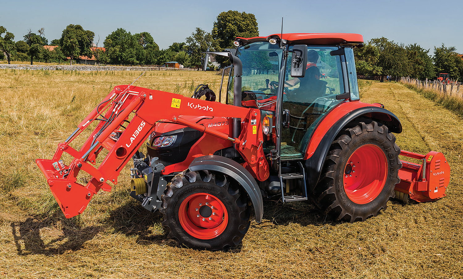
[[344, 168], [344, 191], [356, 204], [364, 205], [381, 193], [388, 175], [388, 160], [381, 148], [365, 144], [357, 148]]

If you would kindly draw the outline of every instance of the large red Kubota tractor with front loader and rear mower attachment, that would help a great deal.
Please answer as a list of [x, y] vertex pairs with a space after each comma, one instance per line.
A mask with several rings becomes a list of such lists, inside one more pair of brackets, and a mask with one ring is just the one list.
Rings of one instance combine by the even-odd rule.
[[[225, 104], [206, 86], [191, 98], [116, 86], [51, 160], [36, 162], [70, 218], [110, 191], [133, 158], [131, 196], [163, 214], [169, 237], [198, 249], [241, 243], [251, 215], [262, 221], [263, 199], [310, 200], [355, 222], [385, 210], [390, 198], [444, 197], [444, 155], [401, 151], [399, 119], [359, 100], [352, 49], [362, 42], [338, 33], [238, 37], [233, 53], [209, 53], [232, 64]], [[91, 136], [71, 147], [88, 127]], [[138, 150], [144, 143], [146, 155]], [[63, 152], [73, 159], [63, 161]]]

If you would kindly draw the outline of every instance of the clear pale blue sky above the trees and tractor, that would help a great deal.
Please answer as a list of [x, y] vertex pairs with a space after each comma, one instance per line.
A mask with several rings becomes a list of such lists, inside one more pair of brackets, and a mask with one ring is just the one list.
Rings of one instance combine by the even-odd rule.
[[0, 0], [0, 25], [15, 41], [44, 27], [49, 41], [69, 24], [95, 33], [102, 46], [117, 28], [132, 34], [150, 32], [161, 49], [184, 42], [196, 27], [211, 31], [220, 12], [256, 16], [259, 35], [284, 33], [358, 33], [365, 41], [387, 37], [431, 49], [445, 43], [463, 53], [463, 5], [430, 0]]

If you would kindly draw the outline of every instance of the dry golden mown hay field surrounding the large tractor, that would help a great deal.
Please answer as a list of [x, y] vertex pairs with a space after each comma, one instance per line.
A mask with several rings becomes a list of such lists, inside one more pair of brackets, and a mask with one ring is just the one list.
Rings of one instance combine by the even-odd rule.
[[[402, 121], [402, 149], [443, 151], [448, 196], [388, 203], [362, 223], [332, 223], [306, 203], [265, 202], [243, 245], [227, 252], [178, 248], [160, 214], [128, 196], [128, 170], [111, 193], [65, 219], [36, 167], [113, 86], [138, 72], [0, 71], [0, 278], [463, 278], [463, 119], [397, 83], [363, 84]], [[138, 86], [191, 95], [220, 76], [148, 72]]]

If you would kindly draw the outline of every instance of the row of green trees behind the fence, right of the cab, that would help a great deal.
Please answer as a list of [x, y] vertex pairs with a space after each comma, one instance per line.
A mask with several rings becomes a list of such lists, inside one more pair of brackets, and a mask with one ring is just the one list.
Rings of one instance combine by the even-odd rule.
[[463, 81], [463, 60], [455, 47], [434, 47], [433, 56], [418, 44], [404, 45], [385, 37], [371, 39], [362, 48], [355, 48], [357, 74], [394, 77], [410, 76], [419, 80], [435, 79], [447, 73], [454, 81]]

